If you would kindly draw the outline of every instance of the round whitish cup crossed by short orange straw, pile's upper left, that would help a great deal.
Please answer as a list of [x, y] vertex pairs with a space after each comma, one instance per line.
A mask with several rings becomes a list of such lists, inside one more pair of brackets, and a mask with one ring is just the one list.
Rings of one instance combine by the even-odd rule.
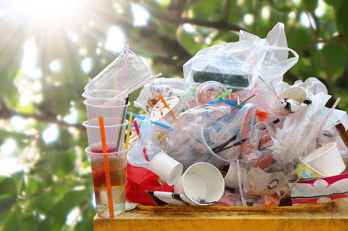
[[[173, 97], [166, 97], [164, 98], [166, 101], [168, 108], [164, 105], [162, 101], [157, 102], [157, 104], [153, 107], [150, 118], [153, 122], [160, 122], [164, 125], [167, 125], [169, 127], [172, 126], [174, 123], [174, 117], [176, 118], [182, 111], [188, 110], [190, 107], [188, 104], [181, 103], [180, 104], [180, 98], [173, 96]], [[172, 113], [172, 114], [171, 114]], [[160, 130], [167, 130], [166, 128], [158, 127]]]

